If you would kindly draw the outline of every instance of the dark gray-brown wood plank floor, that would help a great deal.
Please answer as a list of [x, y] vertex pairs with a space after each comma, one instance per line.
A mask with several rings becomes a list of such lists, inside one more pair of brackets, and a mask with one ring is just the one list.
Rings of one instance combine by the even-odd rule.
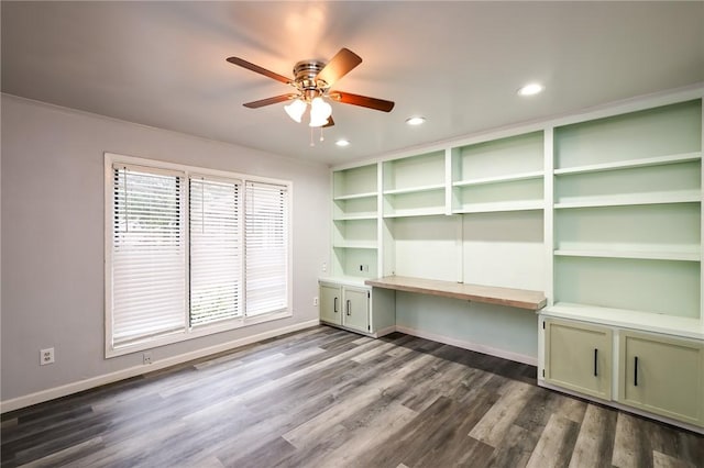
[[536, 368], [320, 326], [2, 417], [2, 467], [702, 467], [704, 437]]

